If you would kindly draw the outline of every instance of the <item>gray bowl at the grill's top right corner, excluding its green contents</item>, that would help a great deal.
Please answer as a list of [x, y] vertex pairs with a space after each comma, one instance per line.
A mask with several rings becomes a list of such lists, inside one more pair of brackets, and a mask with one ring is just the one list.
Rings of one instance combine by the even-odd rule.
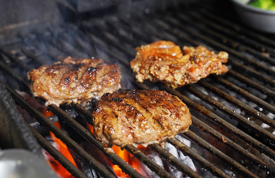
[[247, 26], [261, 32], [275, 33], [275, 11], [252, 7], [249, 0], [231, 0], [240, 17]]

